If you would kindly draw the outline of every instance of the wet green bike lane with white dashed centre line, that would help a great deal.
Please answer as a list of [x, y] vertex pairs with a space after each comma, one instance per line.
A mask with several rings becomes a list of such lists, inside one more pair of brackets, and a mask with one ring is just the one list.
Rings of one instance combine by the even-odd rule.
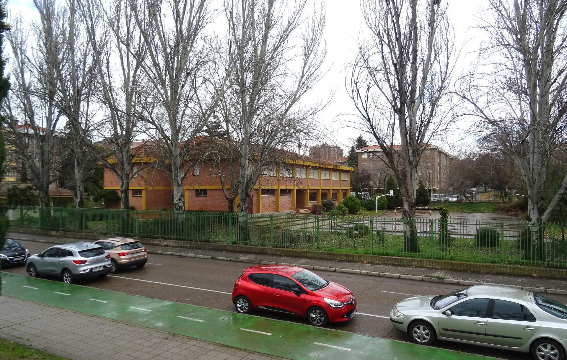
[[2, 294], [294, 360], [492, 359], [5, 272], [2, 272]]

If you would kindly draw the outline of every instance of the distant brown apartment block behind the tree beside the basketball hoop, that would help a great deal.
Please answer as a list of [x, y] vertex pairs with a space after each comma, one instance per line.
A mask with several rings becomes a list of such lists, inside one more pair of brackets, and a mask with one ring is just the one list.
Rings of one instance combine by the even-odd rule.
[[[394, 145], [394, 151], [400, 150], [399, 145]], [[363, 147], [356, 150], [358, 154], [358, 166], [365, 168], [373, 177], [375, 188], [386, 183], [386, 177], [391, 173], [390, 168], [384, 162], [383, 152], [378, 145]], [[454, 158], [439, 146], [427, 144], [420, 164], [417, 168], [417, 181], [424, 183], [431, 194], [443, 193], [447, 189], [447, 170], [449, 160]]]

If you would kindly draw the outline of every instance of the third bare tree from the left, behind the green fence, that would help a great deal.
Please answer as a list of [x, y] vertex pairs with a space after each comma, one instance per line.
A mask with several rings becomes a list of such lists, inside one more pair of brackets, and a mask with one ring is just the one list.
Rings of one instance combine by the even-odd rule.
[[128, 1], [85, 0], [79, 6], [95, 61], [98, 91], [94, 95], [103, 104], [104, 115], [96, 124], [96, 133], [113, 154], [99, 161], [119, 180], [121, 208], [129, 209], [130, 180], [143, 170], [132, 166], [143, 146], [132, 145], [143, 130], [136, 105], [146, 44], [140, 39]]

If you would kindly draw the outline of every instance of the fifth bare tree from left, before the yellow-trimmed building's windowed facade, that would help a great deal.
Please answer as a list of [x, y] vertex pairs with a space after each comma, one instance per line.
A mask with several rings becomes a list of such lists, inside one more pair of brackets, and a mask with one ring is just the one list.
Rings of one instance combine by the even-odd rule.
[[323, 9], [304, 14], [307, 4], [225, 1], [227, 62], [234, 71], [223, 116], [231, 118], [229, 133], [238, 151], [239, 215], [247, 213], [248, 196], [278, 149], [294, 149], [318, 133], [312, 119], [322, 105], [302, 107], [299, 101], [322, 75], [325, 14]]

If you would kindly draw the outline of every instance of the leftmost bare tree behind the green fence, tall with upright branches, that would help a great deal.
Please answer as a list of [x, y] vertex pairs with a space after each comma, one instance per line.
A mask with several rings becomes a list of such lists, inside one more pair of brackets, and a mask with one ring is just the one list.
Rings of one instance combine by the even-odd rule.
[[2, 104], [6, 143], [16, 154], [15, 171], [39, 192], [41, 206], [49, 204], [49, 186], [57, 161], [56, 145], [62, 112], [58, 89], [62, 57], [66, 52], [66, 14], [53, 0], [36, 1], [39, 20], [25, 24], [12, 22], [7, 32], [11, 49], [12, 86]]

